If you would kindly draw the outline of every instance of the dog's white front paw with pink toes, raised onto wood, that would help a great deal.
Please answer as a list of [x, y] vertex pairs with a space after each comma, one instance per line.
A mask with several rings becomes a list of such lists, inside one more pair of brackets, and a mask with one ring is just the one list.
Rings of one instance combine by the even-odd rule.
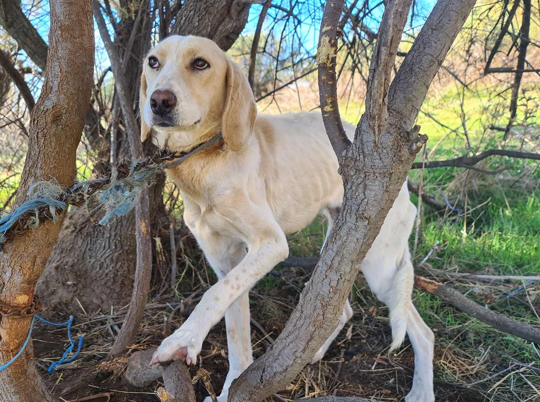
[[175, 360], [185, 360], [187, 365], [197, 362], [203, 340], [195, 333], [180, 328], [170, 337], [165, 338], [152, 356], [150, 365], [159, 363], [164, 366]]

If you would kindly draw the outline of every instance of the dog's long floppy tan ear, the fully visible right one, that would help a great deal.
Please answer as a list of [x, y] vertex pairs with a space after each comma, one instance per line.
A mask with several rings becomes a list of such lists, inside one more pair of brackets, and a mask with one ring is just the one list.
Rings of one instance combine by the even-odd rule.
[[256, 117], [257, 105], [247, 77], [237, 63], [227, 59], [227, 97], [221, 133], [232, 151], [240, 151], [248, 144]]

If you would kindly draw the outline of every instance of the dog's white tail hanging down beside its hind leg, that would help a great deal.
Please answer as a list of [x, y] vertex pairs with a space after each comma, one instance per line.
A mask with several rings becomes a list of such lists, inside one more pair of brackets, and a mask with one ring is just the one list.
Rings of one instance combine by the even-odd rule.
[[413, 285], [414, 269], [410, 259], [409, 247], [407, 246], [403, 251], [403, 256], [401, 257], [400, 264], [397, 266], [397, 272], [392, 282], [392, 288], [387, 296], [393, 339], [390, 345], [390, 351], [399, 348], [405, 339]]

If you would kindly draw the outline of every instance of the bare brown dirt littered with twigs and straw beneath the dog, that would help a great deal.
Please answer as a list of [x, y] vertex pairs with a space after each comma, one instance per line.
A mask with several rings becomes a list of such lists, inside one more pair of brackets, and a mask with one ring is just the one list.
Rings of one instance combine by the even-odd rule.
[[[252, 344], [254, 357], [264, 353], [278, 337], [288, 315], [298, 300], [299, 290], [305, 278], [302, 272], [291, 272], [291, 277], [283, 274], [269, 276], [270, 281], [279, 277], [282, 283], [279, 291], [276, 287], [262, 285], [252, 291], [252, 317], [264, 328], [267, 335], [252, 325]], [[184, 297], [190, 294], [185, 292]], [[197, 298], [195, 298], [197, 301]], [[93, 398], [96, 402], [143, 402], [158, 401], [156, 391], [163, 384], [156, 381], [149, 387], [139, 389], [131, 386], [123, 377], [129, 354], [157, 346], [164, 335], [177, 328], [183, 317], [174, 317], [171, 328], [166, 328], [166, 321], [172, 308], [167, 303], [178, 302], [172, 295], [153, 299], [148, 305], [143, 325], [138, 334], [138, 344], [126, 356], [107, 360], [114, 335], [114, 328], [120, 320], [114, 314], [87, 316], [77, 314], [73, 335], [85, 337], [82, 352], [74, 363], [60, 366], [58, 371], [47, 373], [45, 367], [49, 361], [57, 360], [66, 347], [65, 330], [53, 330], [40, 327], [33, 334], [33, 345], [41, 373], [49, 389], [61, 400], [74, 401], [77, 398], [95, 396], [104, 393], [103, 397]], [[154, 308], [165, 305], [162, 308]], [[192, 305], [191, 305], [192, 307]], [[406, 342], [404, 347], [388, 354], [390, 344], [390, 328], [386, 319], [386, 311], [377, 311], [373, 305], [360, 306], [353, 303], [355, 315], [340, 333], [336, 342], [329, 349], [322, 362], [315, 366], [306, 366], [296, 379], [280, 391], [279, 396], [268, 400], [283, 401], [306, 397], [337, 395], [373, 397], [381, 401], [401, 401], [410, 388], [414, 357], [411, 346]], [[380, 309], [386, 310], [380, 306]], [[186, 308], [186, 314], [190, 306]], [[110, 313], [110, 312], [109, 312]], [[44, 313], [45, 317], [48, 315]], [[55, 316], [57, 314], [53, 314]], [[104, 318], [102, 318], [104, 317]], [[50, 318], [50, 317], [49, 317]], [[62, 319], [58, 315], [56, 318]], [[105, 324], [104, 324], [105, 323]], [[108, 325], [107, 325], [108, 323]], [[435, 392], [438, 402], [480, 402], [490, 400], [482, 387], [467, 387], [460, 384], [442, 381], [437, 375], [438, 359], [448, 350], [435, 350]], [[215, 391], [219, 394], [228, 370], [226, 358], [225, 324], [221, 321], [214, 327], [207, 341], [203, 344], [202, 359], [197, 367], [191, 367], [191, 374], [199, 366], [211, 373]], [[212, 356], [210, 356], [212, 355]], [[207, 396], [201, 381], [195, 385], [198, 400]]]

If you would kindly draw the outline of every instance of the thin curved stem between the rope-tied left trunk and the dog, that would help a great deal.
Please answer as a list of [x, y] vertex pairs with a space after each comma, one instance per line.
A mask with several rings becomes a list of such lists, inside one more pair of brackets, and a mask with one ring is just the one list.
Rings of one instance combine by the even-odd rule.
[[[140, 142], [139, 126], [131, 107], [131, 101], [124, 69], [119, 55], [114, 48], [114, 44], [109, 36], [109, 31], [105, 24], [105, 19], [98, 0], [93, 0], [92, 8], [98, 24], [99, 33], [102, 37], [105, 49], [111, 60], [111, 68], [114, 75], [114, 85], [116, 86], [118, 100], [124, 116], [127, 138], [131, 148], [133, 158], [141, 158], [144, 155], [143, 144]], [[127, 54], [125, 55], [127, 57]], [[139, 202], [135, 205], [135, 220], [137, 222], [136, 243], [137, 243], [137, 263], [135, 269], [135, 281], [131, 296], [130, 308], [127, 311], [124, 324], [111, 349], [111, 356], [119, 355], [127, 350], [133, 343], [144, 315], [144, 308], [148, 292], [150, 290], [150, 279], [152, 276], [152, 239], [150, 235], [150, 207], [148, 189], [144, 188]]]

